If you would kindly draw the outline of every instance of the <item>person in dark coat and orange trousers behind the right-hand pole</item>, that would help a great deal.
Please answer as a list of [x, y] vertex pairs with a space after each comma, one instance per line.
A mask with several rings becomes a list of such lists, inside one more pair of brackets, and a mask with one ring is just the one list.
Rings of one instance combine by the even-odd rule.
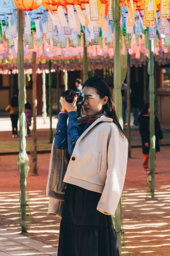
[[[145, 174], [149, 173], [148, 160], [149, 160], [149, 147], [150, 147], [150, 132], [149, 132], [149, 121], [150, 121], [150, 107], [149, 103], [143, 106], [143, 109], [138, 117], [139, 122], [139, 132], [142, 141], [142, 151], [143, 151], [143, 168], [145, 169]], [[162, 143], [162, 130], [158, 118], [155, 116], [155, 152], [160, 151], [159, 144]]]

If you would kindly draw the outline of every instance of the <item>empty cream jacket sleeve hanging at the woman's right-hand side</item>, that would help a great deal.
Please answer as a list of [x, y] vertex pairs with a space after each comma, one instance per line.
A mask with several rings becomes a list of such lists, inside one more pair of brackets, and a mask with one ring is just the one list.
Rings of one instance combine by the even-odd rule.
[[103, 214], [115, 214], [126, 175], [127, 153], [127, 139], [122, 138], [119, 131], [114, 132], [108, 145], [106, 181], [97, 205], [97, 210]]

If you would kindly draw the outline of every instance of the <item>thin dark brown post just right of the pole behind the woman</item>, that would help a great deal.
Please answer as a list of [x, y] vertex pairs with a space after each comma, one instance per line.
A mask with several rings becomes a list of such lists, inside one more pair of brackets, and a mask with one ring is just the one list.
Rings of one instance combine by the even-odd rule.
[[131, 158], [131, 134], [130, 134], [130, 55], [127, 56], [127, 139], [128, 157]]

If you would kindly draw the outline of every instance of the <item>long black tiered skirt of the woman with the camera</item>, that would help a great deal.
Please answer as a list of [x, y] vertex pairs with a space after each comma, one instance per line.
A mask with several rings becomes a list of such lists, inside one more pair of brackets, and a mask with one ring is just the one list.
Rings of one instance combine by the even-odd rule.
[[111, 215], [96, 208], [101, 194], [68, 184], [58, 256], [119, 256]]

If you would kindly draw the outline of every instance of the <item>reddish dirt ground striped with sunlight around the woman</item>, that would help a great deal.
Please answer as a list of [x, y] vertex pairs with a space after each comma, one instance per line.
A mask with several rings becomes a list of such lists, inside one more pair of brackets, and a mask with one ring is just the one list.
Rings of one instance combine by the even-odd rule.
[[[155, 194], [158, 200], [146, 200], [147, 176], [143, 173], [141, 148], [132, 150], [128, 159], [122, 209], [126, 248], [136, 256], [170, 256], [170, 147], [161, 147], [157, 153]], [[30, 158], [30, 155], [29, 155]], [[47, 215], [46, 182], [50, 154], [38, 155], [38, 176], [30, 171], [27, 189], [30, 194], [32, 225], [24, 235], [43, 243], [58, 246], [60, 218]], [[0, 156], [0, 223], [3, 228], [20, 232], [19, 172], [17, 155]], [[125, 254], [126, 255], [126, 254]], [[104, 256], [104, 255], [103, 255]]]

